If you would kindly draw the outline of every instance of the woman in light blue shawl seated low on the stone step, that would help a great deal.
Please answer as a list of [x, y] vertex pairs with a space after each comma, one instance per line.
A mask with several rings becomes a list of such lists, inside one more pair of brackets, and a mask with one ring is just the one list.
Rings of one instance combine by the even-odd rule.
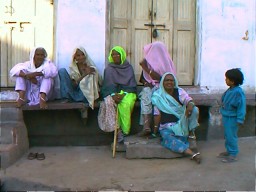
[[188, 138], [195, 139], [194, 130], [199, 126], [199, 110], [186, 91], [178, 87], [176, 77], [165, 73], [160, 87], [152, 95], [154, 105], [154, 132], [159, 127], [161, 144], [173, 152], [190, 155], [200, 163], [200, 153], [189, 148]]

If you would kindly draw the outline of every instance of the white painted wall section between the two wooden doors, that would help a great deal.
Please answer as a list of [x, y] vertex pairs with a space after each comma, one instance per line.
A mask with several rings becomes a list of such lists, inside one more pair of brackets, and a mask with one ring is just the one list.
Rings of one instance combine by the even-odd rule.
[[103, 74], [105, 67], [105, 10], [102, 0], [55, 0], [56, 64], [68, 69], [73, 50], [83, 46]]

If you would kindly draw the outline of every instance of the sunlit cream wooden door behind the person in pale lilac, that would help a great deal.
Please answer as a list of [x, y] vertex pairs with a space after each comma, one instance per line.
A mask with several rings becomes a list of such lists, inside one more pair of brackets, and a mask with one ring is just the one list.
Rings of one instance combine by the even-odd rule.
[[43, 46], [52, 57], [53, 1], [0, 1], [1, 87], [12, 87], [9, 71], [17, 63], [29, 60], [34, 46]]

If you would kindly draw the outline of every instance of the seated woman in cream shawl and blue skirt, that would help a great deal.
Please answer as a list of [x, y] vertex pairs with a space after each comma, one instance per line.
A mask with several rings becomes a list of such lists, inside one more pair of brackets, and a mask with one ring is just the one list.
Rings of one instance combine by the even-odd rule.
[[[59, 69], [61, 98], [89, 103], [94, 109], [94, 101], [99, 98], [100, 76], [83, 47], [74, 49], [69, 69], [70, 74], [65, 68]], [[82, 117], [87, 118], [87, 110], [82, 113]]]

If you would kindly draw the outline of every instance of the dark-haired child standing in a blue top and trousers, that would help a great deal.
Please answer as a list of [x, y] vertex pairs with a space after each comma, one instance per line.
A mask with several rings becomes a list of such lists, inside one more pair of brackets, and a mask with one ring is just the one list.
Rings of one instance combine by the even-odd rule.
[[244, 123], [246, 114], [245, 94], [240, 87], [244, 76], [238, 68], [230, 69], [225, 73], [226, 84], [229, 88], [222, 95], [220, 109], [224, 126], [226, 151], [218, 155], [224, 163], [237, 161], [238, 150], [238, 125]]

